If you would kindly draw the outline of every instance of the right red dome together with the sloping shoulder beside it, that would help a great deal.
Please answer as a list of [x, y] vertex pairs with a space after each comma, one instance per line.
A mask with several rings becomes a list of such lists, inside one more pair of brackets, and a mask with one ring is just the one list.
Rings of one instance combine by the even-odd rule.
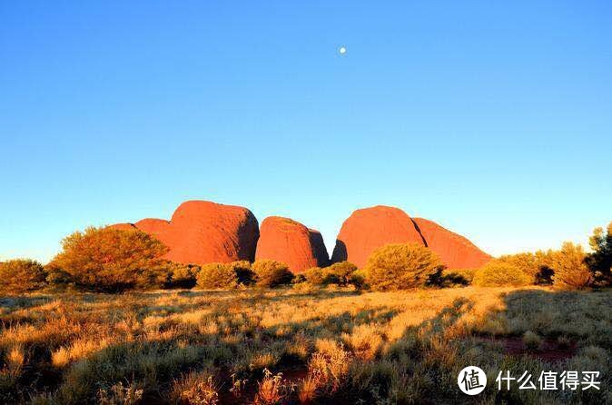
[[353, 212], [342, 224], [331, 262], [346, 260], [363, 267], [370, 253], [380, 246], [407, 242], [429, 247], [449, 269], [480, 267], [491, 258], [468, 239], [436, 222], [411, 219], [398, 208], [379, 205]]

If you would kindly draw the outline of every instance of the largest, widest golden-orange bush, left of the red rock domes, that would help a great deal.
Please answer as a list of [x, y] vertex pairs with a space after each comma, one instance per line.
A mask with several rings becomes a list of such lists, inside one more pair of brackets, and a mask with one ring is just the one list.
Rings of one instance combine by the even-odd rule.
[[78, 287], [94, 291], [161, 287], [167, 282], [162, 256], [167, 248], [138, 231], [90, 227], [62, 241], [50, 266]]

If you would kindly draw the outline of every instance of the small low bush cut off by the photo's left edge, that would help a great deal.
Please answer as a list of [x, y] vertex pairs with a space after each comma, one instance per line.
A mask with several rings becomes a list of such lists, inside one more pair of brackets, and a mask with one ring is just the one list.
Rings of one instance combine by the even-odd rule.
[[46, 272], [41, 263], [30, 259], [0, 262], [0, 291], [23, 293], [44, 287]]

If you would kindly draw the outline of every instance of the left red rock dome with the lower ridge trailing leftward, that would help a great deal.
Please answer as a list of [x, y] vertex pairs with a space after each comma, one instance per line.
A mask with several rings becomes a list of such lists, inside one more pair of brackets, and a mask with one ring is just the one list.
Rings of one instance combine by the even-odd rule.
[[259, 238], [259, 224], [251, 211], [205, 201], [182, 203], [170, 222], [148, 218], [112, 226], [132, 226], [152, 234], [170, 249], [166, 259], [184, 264], [252, 261]]

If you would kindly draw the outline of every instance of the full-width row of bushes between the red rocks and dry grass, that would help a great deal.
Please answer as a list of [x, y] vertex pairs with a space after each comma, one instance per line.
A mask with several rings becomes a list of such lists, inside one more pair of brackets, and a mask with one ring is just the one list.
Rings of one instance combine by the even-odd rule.
[[293, 283], [312, 286], [354, 286], [373, 291], [403, 290], [425, 285], [522, 286], [553, 284], [581, 289], [611, 284], [612, 223], [597, 228], [592, 252], [566, 242], [559, 251], [501, 256], [479, 269], [444, 271], [438, 255], [420, 244], [389, 244], [372, 252], [359, 270], [350, 262], [314, 267], [294, 276], [287, 265], [272, 260], [183, 265], [163, 259], [167, 248], [147, 233], [88, 228], [62, 242], [62, 252], [43, 266], [18, 259], [0, 262], [0, 291], [23, 293], [44, 287], [89, 291], [148, 288], [272, 288]]

